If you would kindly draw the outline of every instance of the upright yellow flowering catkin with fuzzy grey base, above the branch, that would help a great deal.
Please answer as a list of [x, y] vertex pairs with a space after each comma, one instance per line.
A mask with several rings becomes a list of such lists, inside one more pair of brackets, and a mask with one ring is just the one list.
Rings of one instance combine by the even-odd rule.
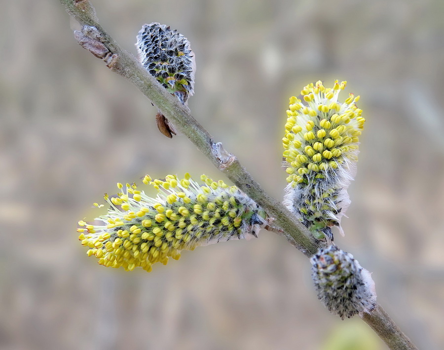
[[301, 91], [305, 103], [290, 97], [282, 139], [288, 173], [284, 204], [319, 239], [333, 239], [331, 227], [340, 228], [350, 203], [347, 188], [365, 122], [356, 106], [359, 96], [338, 101], [345, 86], [336, 80], [326, 88], [318, 81]]

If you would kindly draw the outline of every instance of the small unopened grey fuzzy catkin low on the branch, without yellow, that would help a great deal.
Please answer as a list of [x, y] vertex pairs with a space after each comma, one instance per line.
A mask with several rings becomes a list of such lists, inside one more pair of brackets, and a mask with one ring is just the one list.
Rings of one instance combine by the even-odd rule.
[[318, 299], [333, 315], [351, 318], [374, 309], [376, 292], [371, 274], [353, 255], [331, 245], [321, 248], [310, 261]]

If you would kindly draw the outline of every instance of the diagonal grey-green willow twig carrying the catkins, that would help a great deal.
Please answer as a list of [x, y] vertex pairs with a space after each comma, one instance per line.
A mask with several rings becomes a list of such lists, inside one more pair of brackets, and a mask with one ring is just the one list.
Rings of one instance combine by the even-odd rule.
[[[259, 183], [244, 168], [233, 154], [223, 149], [222, 143], [215, 142], [190, 114], [187, 107], [169, 94], [139, 63], [121, 48], [117, 42], [100, 26], [94, 7], [89, 0], [60, 0], [67, 12], [82, 26], [75, 31], [78, 43], [94, 56], [101, 58], [114, 72], [128, 79], [172, 121], [174, 126], [229, 178], [239, 189], [247, 193], [274, 219], [272, 231], [284, 235], [287, 240], [307, 257], [315, 254], [325, 245], [316, 240], [308, 229], [279, 201], [270, 197]], [[86, 26], [86, 27], [85, 27]], [[388, 314], [377, 304], [370, 314], [362, 316], [376, 334], [392, 350], [417, 349], [400, 330]]]

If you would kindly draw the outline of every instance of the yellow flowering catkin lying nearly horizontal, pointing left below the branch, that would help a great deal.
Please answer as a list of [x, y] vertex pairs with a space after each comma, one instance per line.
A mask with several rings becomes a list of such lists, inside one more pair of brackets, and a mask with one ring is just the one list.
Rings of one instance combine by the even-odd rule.
[[235, 186], [205, 175], [201, 180], [199, 185], [188, 173], [183, 179], [167, 175], [153, 181], [147, 175], [143, 182], [157, 190], [156, 198], [135, 184], [117, 184], [121, 190], [117, 196], [104, 196], [110, 204], [108, 213], [95, 219], [103, 224], [79, 221], [78, 239], [101, 265], [150, 272], [156, 262], [166, 265], [169, 257], [179, 259], [181, 250], [257, 237], [265, 223], [264, 211]]

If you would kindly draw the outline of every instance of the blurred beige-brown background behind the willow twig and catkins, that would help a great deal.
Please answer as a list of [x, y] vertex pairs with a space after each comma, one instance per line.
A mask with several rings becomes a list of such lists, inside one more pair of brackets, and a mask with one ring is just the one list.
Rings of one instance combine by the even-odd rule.
[[[336, 242], [420, 349], [444, 348], [443, 1], [93, 4], [133, 53], [144, 23], [191, 41], [193, 115], [277, 198], [288, 97], [347, 80], [367, 123]], [[117, 181], [224, 178], [185, 136], [157, 131], [155, 108], [75, 42], [58, 1], [1, 8], [1, 349], [386, 349], [358, 318], [330, 315], [309, 261], [266, 231], [150, 274], [88, 258], [76, 223]]]

